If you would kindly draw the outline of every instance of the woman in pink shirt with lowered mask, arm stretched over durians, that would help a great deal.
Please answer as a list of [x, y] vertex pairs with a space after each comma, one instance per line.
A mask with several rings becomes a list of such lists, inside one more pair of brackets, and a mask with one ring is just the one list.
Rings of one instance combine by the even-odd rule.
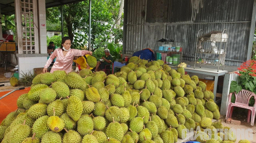
[[75, 56], [84, 56], [86, 54], [92, 55], [93, 52], [87, 50], [71, 49], [71, 39], [69, 37], [63, 37], [61, 40], [60, 48], [54, 50], [47, 60], [43, 73], [47, 72], [47, 68], [52, 63], [52, 60], [56, 57], [56, 61], [52, 66], [51, 73], [56, 70], [64, 70], [67, 73], [72, 71], [72, 63]]

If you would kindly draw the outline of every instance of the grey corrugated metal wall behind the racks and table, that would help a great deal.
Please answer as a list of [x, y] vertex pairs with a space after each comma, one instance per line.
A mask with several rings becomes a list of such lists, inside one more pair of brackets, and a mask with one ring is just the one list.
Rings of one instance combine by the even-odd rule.
[[[202, 1], [194, 7], [191, 1]], [[199, 29], [227, 29], [226, 65], [246, 61], [253, 0], [125, 0], [124, 53], [157, 50], [162, 38], [184, 42], [184, 60], [194, 60]], [[198, 11], [197, 11], [198, 10]], [[198, 12], [198, 13], [196, 13]]]

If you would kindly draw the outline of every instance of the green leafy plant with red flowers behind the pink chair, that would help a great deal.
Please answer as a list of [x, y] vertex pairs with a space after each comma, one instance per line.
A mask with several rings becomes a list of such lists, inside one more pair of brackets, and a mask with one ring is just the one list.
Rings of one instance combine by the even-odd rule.
[[[231, 81], [230, 84], [230, 93], [239, 92], [242, 89], [252, 91], [256, 94], [256, 60], [248, 60], [237, 68], [239, 72], [236, 74], [239, 75], [239, 83]], [[231, 97], [231, 102], [234, 103], [236, 100], [234, 94]], [[254, 98], [252, 97], [249, 100], [249, 106], [253, 106], [255, 103]]]

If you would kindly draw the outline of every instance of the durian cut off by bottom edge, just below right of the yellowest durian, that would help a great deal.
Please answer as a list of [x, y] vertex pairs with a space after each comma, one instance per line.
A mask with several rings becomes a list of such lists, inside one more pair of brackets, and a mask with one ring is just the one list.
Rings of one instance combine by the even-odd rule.
[[74, 130], [67, 130], [64, 128], [66, 133], [63, 136], [62, 143], [80, 143], [82, 141], [82, 138], [80, 134]]

